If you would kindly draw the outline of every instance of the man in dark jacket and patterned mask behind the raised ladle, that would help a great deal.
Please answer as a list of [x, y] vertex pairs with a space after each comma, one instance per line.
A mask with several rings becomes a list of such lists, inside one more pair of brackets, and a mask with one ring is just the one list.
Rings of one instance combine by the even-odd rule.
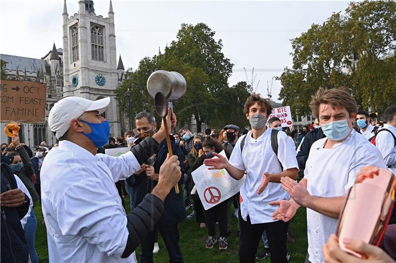
[[[135, 117], [136, 128], [140, 132], [141, 137], [152, 137], [156, 134], [157, 123], [151, 113], [141, 112]], [[180, 162], [182, 174], [183, 168], [183, 152], [179, 145], [172, 145], [173, 155], [177, 156]], [[128, 183], [132, 187], [136, 187], [135, 205], [139, 205], [145, 195], [150, 193], [157, 185], [159, 168], [166, 159], [168, 154], [167, 142], [164, 139], [159, 146], [159, 150], [155, 152], [156, 160], [154, 163], [145, 164], [145, 171], [138, 174], [135, 173], [129, 177]], [[178, 224], [186, 218], [186, 210], [183, 203], [183, 193], [180, 190], [176, 194], [175, 189], [171, 189], [170, 193], [164, 201], [164, 212], [158, 221], [156, 231], [149, 232], [141, 243], [141, 263], [150, 263], [153, 260], [153, 253], [159, 251], [158, 246], [158, 230], [164, 240], [169, 255], [170, 262], [183, 262], [183, 255], [179, 245], [179, 229]]]

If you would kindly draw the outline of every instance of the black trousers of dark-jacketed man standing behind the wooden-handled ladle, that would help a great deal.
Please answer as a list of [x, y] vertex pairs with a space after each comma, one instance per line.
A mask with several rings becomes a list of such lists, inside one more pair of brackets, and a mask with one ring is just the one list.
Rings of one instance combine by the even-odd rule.
[[[161, 233], [162, 239], [164, 240], [166, 250], [168, 251], [170, 263], [183, 263], [183, 254], [180, 250], [179, 245], [179, 228], [178, 224], [165, 225], [162, 220], [157, 224], [158, 231]], [[152, 263], [152, 250], [154, 249], [155, 232], [148, 233], [146, 239], [142, 240], [140, 245], [140, 263]]]

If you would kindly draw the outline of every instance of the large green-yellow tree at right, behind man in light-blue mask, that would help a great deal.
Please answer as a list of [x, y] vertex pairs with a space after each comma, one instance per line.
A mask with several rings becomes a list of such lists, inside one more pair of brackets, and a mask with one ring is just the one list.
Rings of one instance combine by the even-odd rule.
[[[345, 14], [334, 13], [291, 40], [292, 68], [278, 77], [280, 99], [298, 115], [310, 113], [311, 96], [319, 87], [347, 87], [359, 105], [371, 111], [396, 100], [396, 3], [351, 3]], [[357, 64], [352, 63], [357, 58]]]

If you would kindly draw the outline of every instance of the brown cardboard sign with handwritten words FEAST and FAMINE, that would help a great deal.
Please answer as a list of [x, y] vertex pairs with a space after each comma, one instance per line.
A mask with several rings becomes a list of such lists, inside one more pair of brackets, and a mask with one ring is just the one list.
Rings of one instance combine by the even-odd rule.
[[45, 83], [1, 79], [1, 121], [45, 123]]

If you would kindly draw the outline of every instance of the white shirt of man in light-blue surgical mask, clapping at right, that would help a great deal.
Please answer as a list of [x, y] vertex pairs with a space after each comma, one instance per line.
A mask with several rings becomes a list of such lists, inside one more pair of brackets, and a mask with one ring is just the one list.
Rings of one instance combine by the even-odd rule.
[[[304, 178], [309, 194], [320, 197], [346, 196], [360, 168], [374, 165], [384, 168], [380, 151], [352, 130], [349, 137], [332, 149], [324, 149], [328, 138], [314, 142], [306, 161]], [[322, 247], [330, 234], [335, 233], [338, 219], [315, 212], [307, 214], [308, 253], [312, 263], [323, 262]]]

